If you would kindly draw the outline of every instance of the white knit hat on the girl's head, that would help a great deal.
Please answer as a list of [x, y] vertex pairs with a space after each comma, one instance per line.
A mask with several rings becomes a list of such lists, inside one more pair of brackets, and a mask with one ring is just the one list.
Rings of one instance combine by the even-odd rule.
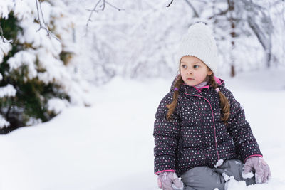
[[202, 60], [213, 73], [217, 72], [219, 58], [217, 45], [212, 36], [212, 30], [206, 24], [199, 22], [192, 24], [180, 41], [176, 53], [177, 63], [183, 56], [195, 56]]

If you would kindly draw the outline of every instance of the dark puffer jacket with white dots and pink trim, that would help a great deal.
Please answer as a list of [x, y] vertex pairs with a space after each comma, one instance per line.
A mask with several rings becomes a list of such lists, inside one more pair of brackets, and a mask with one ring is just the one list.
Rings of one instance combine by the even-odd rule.
[[174, 82], [155, 114], [155, 174], [175, 171], [180, 176], [193, 167], [214, 167], [219, 159], [262, 157], [244, 110], [219, 78], [218, 87], [230, 102], [228, 125], [221, 120], [219, 95], [209, 84], [200, 89], [183, 84], [172, 120], [167, 121]]

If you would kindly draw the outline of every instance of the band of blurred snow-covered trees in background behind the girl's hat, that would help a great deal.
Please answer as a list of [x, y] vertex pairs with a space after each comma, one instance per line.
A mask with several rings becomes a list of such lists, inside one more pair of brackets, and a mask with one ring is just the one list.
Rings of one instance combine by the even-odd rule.
[[[77, 0], [64, 1], [68, 11], [77, 14], [76, 39], [81, 43], [77, 59], [84, 60], [78, 70], [88, 73], [85, 77], [94, 84], [106, 83], [115, 75], [149, 78], [177, 73], [177, 43], [197, 21], [213, 28], [220, 73], [265, 68], [284, 58], [280, 51], [284, 41], [276, 38], [285, 26], [274, 24], [281, 14], [279, 0], [108, 1], [121, 11], [110, 4], [103, 6], [107, 1], [81, 1], [80, 6]], [[90, 16], [96, 4], [105, 8]], [[276, 15], [271, 14], [276, 7]]]

